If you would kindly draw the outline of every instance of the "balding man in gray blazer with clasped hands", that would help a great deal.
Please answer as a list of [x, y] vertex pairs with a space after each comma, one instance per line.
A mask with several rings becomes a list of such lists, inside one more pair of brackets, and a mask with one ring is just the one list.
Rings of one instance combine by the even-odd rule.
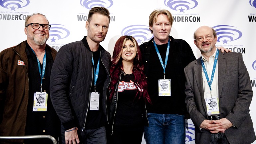
[[201, 57], [185, 69], [186, 104], [195, 126], [195, 143], [249, 144], [256, 137], [249, 107], [253, 91], [239, 53], [219, 53], [216, 32], [194, 33]]

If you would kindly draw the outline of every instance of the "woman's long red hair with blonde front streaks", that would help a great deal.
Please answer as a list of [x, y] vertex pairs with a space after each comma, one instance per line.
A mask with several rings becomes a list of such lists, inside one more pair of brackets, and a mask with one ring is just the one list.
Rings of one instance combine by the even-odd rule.
[[121, 74], [122, 68], [123, 68], [123, 63], [122, 63], [122, 51], [123, 47], [126, 41], [131, 40], [133, 44], [135, 45], [135, 50], [136, 50], [136, 56], [133, 59], [133, 74], [134, 74], [134, 84], [137, 84], [136, 86], [139, 87], [140, 89], [143, 89], [142, 92], [140, 92], [137, 89], [136, 96], [139, 96], [139, 99], [143, 97], [145, 101], [148, 101], [151, 103], [150, 97], [148, 95], [148, 86], [147, 86], [147, 80], [146, 76], [144, 75], [144, 66], [142, 64], [142, 55], [139, 49], [139, 45], [137, 41], [135, 40], [134, 37], [132, 36], [121, 36], [115, 44], [113, 55], [112, 55], [112, 64], [110, 66], [110, 76], [111, 76], [111, 84], [109, 89], [111, 90], [109, 99], [111, 100], [112, 96], [115, 93], [115, 86], [118, 85], [119, 81], [119, 76]]

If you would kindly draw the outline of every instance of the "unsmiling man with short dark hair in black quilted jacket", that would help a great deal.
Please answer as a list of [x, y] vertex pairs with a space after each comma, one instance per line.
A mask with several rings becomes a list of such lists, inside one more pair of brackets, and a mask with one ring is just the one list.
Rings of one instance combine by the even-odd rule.
[[109, 22], [106, 8], [92, 8], [86, 21], [87, 37], [64, 45], [56, 56], [51, 94], [66, 144], [106, 143], [111, 55], [99, 43], [106, 37]]

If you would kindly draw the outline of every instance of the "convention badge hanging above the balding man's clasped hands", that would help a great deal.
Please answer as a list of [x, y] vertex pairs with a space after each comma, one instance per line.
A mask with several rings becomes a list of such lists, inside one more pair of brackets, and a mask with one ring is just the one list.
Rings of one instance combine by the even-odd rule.
[[210, 97], [205, 98], [207, 114], [210, 115], [219, 115], [219, 98], [218, 97]]

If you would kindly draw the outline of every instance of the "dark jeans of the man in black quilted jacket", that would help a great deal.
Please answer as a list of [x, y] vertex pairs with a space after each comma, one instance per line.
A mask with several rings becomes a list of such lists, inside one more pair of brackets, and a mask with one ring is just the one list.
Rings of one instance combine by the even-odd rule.
[[[65, 130], [64, 126], [61, 125], [62, 128], [62, 143], [65, 144]], [[84, 131], [77, 130], [79, 144], [106, 144], [107, 143], [107, 134], [105, 126], [96, 128], [96, 129], [85, 129]]]

